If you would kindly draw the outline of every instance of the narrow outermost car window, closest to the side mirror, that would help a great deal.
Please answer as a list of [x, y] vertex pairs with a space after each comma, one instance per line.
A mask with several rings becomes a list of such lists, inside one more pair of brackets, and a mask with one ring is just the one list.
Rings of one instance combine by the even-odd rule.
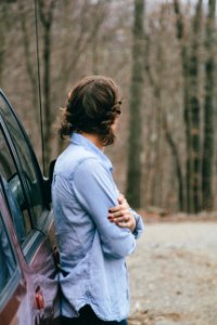
[[[21, 160], [22, 178], [24, 179], [24, 183], [26, 185], [25, 191], [27, 192], [31, 213], [35, 217], [35, 221], [37, 221], [43, 210], [43, 199], [41, 194], [41, 183], [39, 180], [35, 157], [33, 157], [33, 153], [15, 116], [13, 115], [10, 106], [1, 95], [0, 112], [2, 112], [2, 117], [7, 122], [9, 132], [16, 147], [16, 153]], [[11, 180], [11, 182], [16, 183], [16, 179]]]

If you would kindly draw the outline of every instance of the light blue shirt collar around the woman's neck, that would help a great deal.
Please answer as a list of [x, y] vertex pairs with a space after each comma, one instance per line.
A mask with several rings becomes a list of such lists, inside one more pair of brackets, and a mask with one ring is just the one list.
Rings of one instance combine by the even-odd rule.
[[94, 153], [102, 160], [102, 162], [110, 169], [110, 171], [111, 172], [113, 171], [113, 165], [112, 165], [111, 160], [89, 139], [87, 139], [82, 134], [76, 133], [76, 132], [73, 132], [69, 138], [71, 138], [71, 140], [69, 140], [71, 143], [76, 144], [76, 145], [81, 145], [86, 150]]

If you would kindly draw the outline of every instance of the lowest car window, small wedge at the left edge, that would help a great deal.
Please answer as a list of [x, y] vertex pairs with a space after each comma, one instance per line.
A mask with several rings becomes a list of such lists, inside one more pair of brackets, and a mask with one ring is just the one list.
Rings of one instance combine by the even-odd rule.
[[9, 283], [10, 278], [13, 276], [16, 269], [14, 255], [2, 221], [1, 210], [0, 210], [0, 265], [1, 265], [0, 295], [1, 295], [2, 290]]

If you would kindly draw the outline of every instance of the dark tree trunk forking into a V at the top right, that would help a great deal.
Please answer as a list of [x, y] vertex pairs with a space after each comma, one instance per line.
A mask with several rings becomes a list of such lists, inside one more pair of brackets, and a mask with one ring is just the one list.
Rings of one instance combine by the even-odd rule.
[[183, 74], [183, 117], [186, 125], [186, 193], [187, 211], [199, 212], [201, 210], [201, 157], [200, 157], [200, 101], [199, 101], [199, 39], [202, 18], [202, 0], [196, 4], [193, 18], [192, 47], [184, 40], [184, 24], [180, 13], [179, 1], [174, 0], [174, 9], [177, 15], [177, 38], [181, 44], [181, 61]]

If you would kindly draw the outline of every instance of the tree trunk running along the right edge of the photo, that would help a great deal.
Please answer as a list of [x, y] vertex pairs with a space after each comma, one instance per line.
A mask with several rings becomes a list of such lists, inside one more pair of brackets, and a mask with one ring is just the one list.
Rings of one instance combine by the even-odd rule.
[[215, 12], [216, 0], [208, 1], [208, 17], [206, 25], [206, 53], [205, 65], [205, 103], [204, 103], [204, 143], [203, 143], [203, 169], [202, 192], [203, 209], [213, 208], [213, 158], [214, 158], [214, 110], [215, 110]]

